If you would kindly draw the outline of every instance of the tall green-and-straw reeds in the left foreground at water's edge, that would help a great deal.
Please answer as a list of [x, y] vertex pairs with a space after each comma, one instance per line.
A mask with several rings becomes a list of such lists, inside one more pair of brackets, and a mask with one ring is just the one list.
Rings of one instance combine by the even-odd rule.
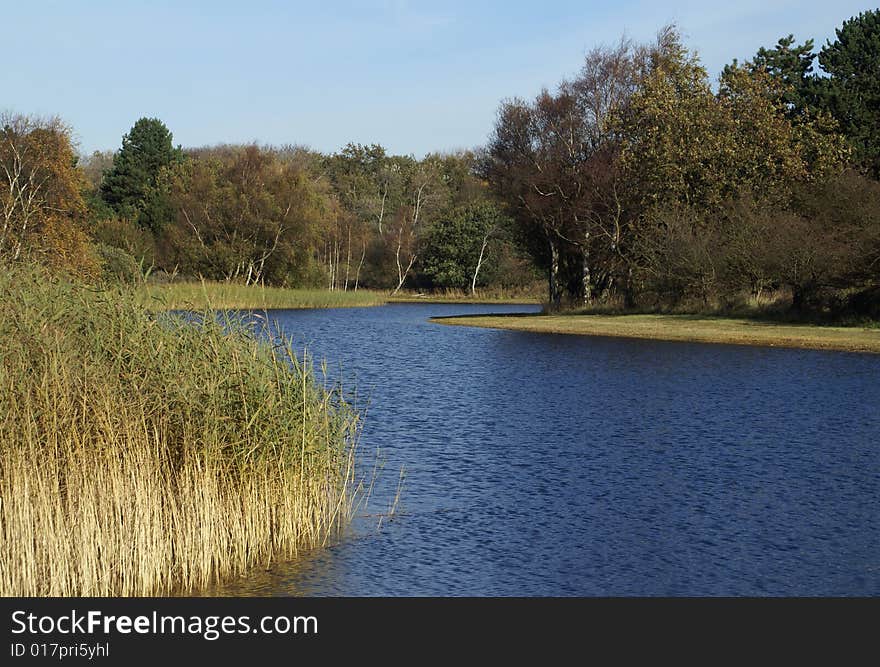
[[326, 543], [357, 417], [213, 316], [0, 273], [0, 595], [186, 593]]

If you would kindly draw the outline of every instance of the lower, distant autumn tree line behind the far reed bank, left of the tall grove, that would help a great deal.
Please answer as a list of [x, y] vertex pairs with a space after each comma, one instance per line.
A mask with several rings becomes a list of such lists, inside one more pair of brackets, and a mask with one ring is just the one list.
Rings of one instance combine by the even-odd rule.
[[161, 120], [141, 118], [118, 151], [77, 159], [58, 119], [6, 114], [0, 124], [0, 160], [11, 167], [0, 253], [13, 258], [90, 278], [331, 290], [475, 292], [536, 280], [472, 152], [183, 150]]

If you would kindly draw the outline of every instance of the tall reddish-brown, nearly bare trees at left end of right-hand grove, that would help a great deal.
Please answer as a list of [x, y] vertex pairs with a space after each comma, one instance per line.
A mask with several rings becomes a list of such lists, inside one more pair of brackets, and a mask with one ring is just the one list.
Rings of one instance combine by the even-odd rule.
[[[514, 204], [526, 236], [542, 239], [533, 254], [549, 273], [559, 305], [560, 264], [576, 253], [585, 304], [611, 288], [623, 258], [619, 119], [645, 71], [648, 51], [622, 40], [590, 52], [579, 75], [531, 104], [502, 106], [489, 146], [487, 172], [495, 191]], [[537, 232], [537, 233], [535, 233]], [[567, 257], [566, 266], [575, 265]]]

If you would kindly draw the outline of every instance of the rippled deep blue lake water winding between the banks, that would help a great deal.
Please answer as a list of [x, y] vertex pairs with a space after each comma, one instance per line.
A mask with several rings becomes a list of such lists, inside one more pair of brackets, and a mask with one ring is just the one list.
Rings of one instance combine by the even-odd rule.
[[534, 309], [274, 311], [384, 469], [350, 535], [224, 592], [880, 594], [880, 356], [428, 321]]

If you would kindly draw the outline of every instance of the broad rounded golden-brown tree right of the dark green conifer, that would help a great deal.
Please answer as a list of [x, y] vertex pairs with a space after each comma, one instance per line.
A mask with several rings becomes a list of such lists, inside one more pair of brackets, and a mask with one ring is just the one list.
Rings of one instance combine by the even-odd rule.
[[255, 145], [193, 154], [175, 171], [170, 202], [164, 265], [246, 284], [310, 282], [331, 213], [308, 174]]

